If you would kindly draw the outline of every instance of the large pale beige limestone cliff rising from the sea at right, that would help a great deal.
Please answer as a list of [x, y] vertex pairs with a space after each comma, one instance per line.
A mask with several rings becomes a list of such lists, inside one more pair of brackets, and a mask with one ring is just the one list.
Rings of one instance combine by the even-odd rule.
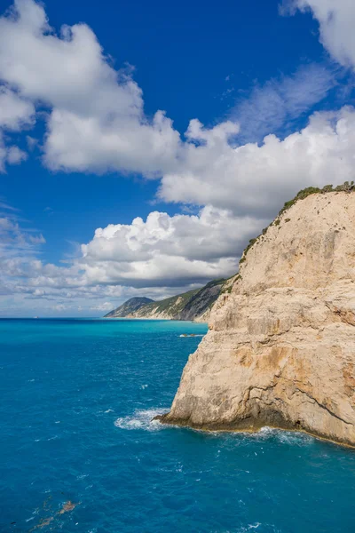
[[355, 446], [354, 193], [310, 195], [257, 239], [162, 421]]

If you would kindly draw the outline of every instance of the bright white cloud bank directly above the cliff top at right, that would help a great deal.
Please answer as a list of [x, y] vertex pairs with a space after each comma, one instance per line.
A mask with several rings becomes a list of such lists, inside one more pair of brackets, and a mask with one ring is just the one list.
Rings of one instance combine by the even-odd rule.
[[283, 140], [268, 135], [261, 146], [232, 147], [226, 140], [188, 145], [178, 172], [163, 176], [159, 195], [270, 217], [303, 187], [354, 179], [354, 148], [353, 107], [316, 113], [304, 130]]

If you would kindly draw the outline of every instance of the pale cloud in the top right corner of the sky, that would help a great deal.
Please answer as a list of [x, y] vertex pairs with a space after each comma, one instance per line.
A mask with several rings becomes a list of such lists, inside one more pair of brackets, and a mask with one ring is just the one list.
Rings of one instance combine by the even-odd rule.
[[320, 42], [343, 66], [355, 66], [355, 4], [352, 0], [286, 0], [291, 12], [312, 10], [319, 21]]

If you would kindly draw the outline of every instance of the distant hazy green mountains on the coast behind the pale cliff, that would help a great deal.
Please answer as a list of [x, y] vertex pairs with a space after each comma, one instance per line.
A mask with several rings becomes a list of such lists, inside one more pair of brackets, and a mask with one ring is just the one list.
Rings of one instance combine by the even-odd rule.
[[[189, 290], [158, 302], [149, 298], [130, 298], [122, 306], [106, 314], [105, 318], [163, 318], [207, 322], [210, 309], [220, 293], [225, 291], [228, 282], [229, 280], [224, 279], [213, 280], [201, 289]], [[143, 300], [146, 301], [141, 303]], [[137, 306], [133, 308], [136, 301]]]

